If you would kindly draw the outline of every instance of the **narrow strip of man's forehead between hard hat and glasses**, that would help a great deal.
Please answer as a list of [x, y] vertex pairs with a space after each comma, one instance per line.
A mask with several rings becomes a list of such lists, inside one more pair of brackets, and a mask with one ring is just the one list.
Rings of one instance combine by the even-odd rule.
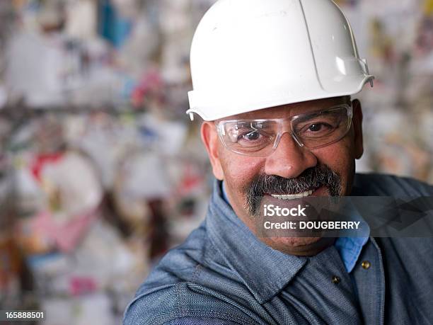
[[243, 120], [243, 119], [265, 119], [265, 118], [290, 118], [291, 116], [314, 113], [319, 110], [330, 108], [332, 106], [350, 103], [349, 97], [333, 97], [319, 99], [316, 101], [305, 101], [302, 103], [293, 103], [284, 106], [254, 110], [253, 112], [238, 114], [221, 120]]

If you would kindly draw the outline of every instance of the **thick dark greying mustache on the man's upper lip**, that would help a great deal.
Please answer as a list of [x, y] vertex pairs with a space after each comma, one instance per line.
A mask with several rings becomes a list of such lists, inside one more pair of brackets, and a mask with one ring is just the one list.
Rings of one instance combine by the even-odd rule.
[[246, 209], [254, 216], [265, 194], [296, 194], [322, 186], [328, 188], [331, 196], [340, 196], [342, 193], [340, 175], [326, 165], [306, 169], [296, 178], [258, 175], [244, 189]]

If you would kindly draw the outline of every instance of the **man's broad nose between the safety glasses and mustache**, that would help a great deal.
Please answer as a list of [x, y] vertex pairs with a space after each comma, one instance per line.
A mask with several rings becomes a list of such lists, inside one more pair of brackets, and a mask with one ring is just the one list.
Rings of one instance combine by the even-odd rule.
[[287, 132], [282, 136], [275, 152], [267, 157], [265, 173], [284, 178], [296, 178], [317, 163], [317, 157], [313, 152], [300, 147]]

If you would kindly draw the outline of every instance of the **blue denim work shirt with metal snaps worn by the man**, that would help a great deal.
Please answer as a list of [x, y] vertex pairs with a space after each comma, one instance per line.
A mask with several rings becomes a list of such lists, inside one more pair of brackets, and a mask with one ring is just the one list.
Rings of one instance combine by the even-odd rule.
[[[353, 195], [432, 196], [433, 188], [358, 175]], [[206, 219], [154, 268], [124, 324], [431, 324], [432, 251], [432, 238], [370, 238], [352, 283], [335, 246], [301, 257], [262, 244], [216, 183]]]

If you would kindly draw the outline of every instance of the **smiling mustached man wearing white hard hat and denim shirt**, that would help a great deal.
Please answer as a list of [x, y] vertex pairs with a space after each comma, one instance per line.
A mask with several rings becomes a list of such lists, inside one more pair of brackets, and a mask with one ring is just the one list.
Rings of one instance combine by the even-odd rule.
[[[431, 324], [431, 238], [262, 236], [263, 200], [432, 196], [354, 173], [371, 82], [330, 0], [219, 0], [192, 42], [190, 110], [217, 181], [205, 221], [139, 288], [124, 324]], [[351, 212], [352, 213], [352, 212]]]

